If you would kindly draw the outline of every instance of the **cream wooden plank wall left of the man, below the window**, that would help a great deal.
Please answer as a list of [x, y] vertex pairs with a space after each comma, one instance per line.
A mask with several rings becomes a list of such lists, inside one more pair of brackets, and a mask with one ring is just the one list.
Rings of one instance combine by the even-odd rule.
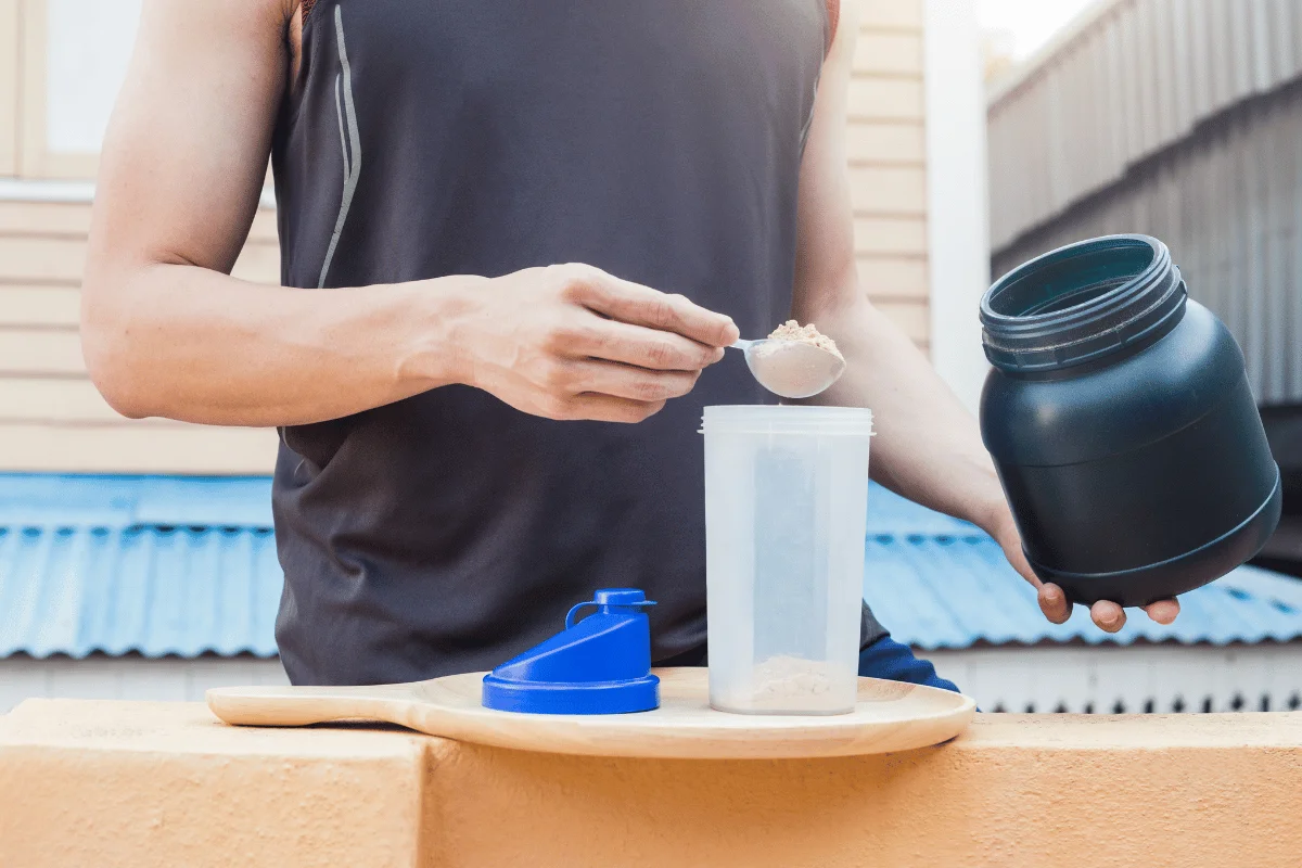
[[[273, 431], [130, 420], [86, 376], [77, 334], [90, 204], [0, 202], [0, 470], [268, 474]], [[279, 282], [276, 220], [260, 210], [238, 277]]]

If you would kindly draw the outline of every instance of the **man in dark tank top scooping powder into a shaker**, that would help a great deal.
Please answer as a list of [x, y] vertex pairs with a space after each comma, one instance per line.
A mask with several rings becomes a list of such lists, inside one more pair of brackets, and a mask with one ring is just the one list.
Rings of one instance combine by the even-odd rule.
[[[857, 29], [849, 0], [145, 3], [86, 360], [129, 416], [280, 428], [294, 682], [487, 669], [603, 586], [660, 604], [658, 662], [699, 664], [695, 432], [768, 400], [723, 347], [789, 312], [849, 359], [822, 400], [875, 410], [875, 476], [1066, 618], [971, 418], [858, 286]], [[268, 154], [281, 288], [228, 276]], [[867, 610], [863, 648], [941, 683]]]

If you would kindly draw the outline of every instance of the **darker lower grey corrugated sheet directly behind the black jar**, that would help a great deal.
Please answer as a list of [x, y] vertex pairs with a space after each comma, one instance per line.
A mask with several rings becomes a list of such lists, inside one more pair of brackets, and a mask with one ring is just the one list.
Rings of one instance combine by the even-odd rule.
[[[1302, 0], [1297, 0], [1302, 10]], [[1298, 31], [1302, 34], [1302, 29]], [[1108, 120], [1120, 124], [1120, 120]], [[1202, 126], [1117, 183], [997, 247], [1003, 275], [1073, 241], [1121, 232], [1161, 238], [1190, 297], [1243, 349], [1258, 402], [1302, 403], [1302, 79]], [[1047, 137], [1018, 147], [1048, 150]], [[1021, 157], [1018, 157], [1021, 159]], [[991, 185], [995, 212], [1022, 178]]]

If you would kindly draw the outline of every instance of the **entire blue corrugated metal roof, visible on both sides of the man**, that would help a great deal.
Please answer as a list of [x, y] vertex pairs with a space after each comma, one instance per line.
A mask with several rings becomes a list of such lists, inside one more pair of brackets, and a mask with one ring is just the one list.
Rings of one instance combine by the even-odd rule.
[[[0, 475], [0, 657], [273, 656], [270, 498], [263, 478]], [[1051, 625], [988, 536], [876, 485], [866, 554], [865, 597], [927, 649], [1302, 638], [1302, 583], [1253, 567], [1181, 597], [1169, 627], [1137, 613], [1107, 636], [1079, 608]]]

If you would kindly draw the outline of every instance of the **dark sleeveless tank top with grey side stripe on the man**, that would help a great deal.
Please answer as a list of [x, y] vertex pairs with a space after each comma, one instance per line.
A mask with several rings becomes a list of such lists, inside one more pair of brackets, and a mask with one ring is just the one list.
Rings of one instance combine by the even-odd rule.
[[[824, 0], [318, 0], [275, 131], [284, 284], [585, 262], [766, 333], [829, 25]], [[656, 660], [694, 653], [702, 407], [768, 400], [729, 358], [637, 426], [448, 387], [283, 429], [289, 677], [490, 669], [618, 586], [659, 603]]]

